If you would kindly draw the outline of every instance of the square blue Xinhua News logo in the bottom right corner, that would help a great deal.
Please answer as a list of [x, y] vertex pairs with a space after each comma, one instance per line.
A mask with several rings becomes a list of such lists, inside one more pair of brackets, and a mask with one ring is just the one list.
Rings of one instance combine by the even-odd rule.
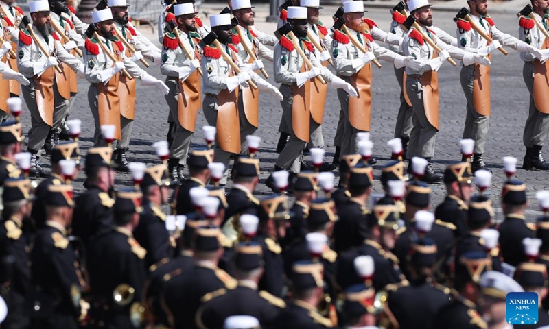
[[506, 317], [508, 324], [537, 324], [537, 293], [508, 293]]

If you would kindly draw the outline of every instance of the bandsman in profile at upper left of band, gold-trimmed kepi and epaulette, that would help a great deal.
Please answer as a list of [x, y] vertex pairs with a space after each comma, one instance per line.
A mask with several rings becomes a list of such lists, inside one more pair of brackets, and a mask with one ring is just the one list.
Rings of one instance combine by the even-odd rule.
[[115, 183], [116, 172], [111, 167], [113, 150], [109, 147], [93, 147], [86, 156], [86, 182], [88, 189], [75, 199], [73, 234], [84, 243], [89, 238], [113, 225], [113, 204], [110, 188]]

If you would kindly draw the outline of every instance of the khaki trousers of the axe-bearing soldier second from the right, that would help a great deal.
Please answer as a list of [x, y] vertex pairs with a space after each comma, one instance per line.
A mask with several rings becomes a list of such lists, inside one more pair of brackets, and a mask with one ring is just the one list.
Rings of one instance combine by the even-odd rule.
[[467, 99], [467, 117], [463, 138], [471, 138], [475, 141], [475, 153], [484, 153], [486, 136], [490, 127], [490, 117], [481, 115], [475, 110], [473, 102], [473, 81], [475, 79], [475, 66], [463, 66], [460, 73], [461, 88]]

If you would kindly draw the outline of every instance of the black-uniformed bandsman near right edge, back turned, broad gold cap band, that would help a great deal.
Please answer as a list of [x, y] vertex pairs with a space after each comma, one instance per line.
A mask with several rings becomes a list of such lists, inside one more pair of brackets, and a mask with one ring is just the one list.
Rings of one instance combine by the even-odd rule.
[[535, 226], [526, 223], [524, 217], [526, 208], [526, 184], [519, 180], [506, 181], [502, 188], [502, 209], [505, 219], [498, 230], [503, 261], [514, 267], [526, 261], [522, 248], [517, 248], [517, 245], [522, 245], [524, 238], [534, 237]]

